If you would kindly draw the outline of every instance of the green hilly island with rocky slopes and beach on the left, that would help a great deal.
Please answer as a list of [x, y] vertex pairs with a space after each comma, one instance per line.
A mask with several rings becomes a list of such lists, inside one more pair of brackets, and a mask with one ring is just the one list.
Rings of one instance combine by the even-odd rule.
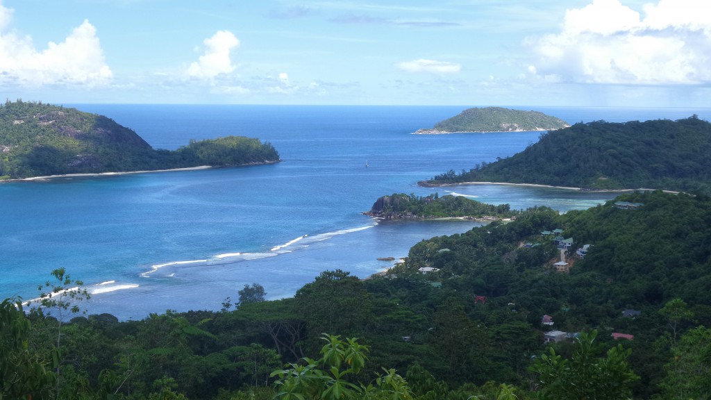
[[228, 136], [154, 149], [102, 115], [42, 102], [0, 105], [0, 180], [279, 162], [270, 143]]

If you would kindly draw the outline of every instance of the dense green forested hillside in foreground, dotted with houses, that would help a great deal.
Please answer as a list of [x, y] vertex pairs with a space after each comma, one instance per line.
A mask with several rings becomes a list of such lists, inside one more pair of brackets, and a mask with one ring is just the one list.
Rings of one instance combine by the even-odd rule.
[[[636, 206], [620, 209], [616, 201]], [[560, 248], [542, 231], [554, 229], [573, 239], [569, 273], [552, 268]], [[584, 244], [593, 245], [587, 256], [575, 256]], [[439, 270], [423, 275], [423, 266]], [[58, 286], [48, 287], [75, 285], [60, 276]], [[384, 276], [359, 280], [326, 271], [293, 298], [276, 301], [260, 301], [259, 285], [239, 289], [236, 310], [227, 299], [220, 312], [169, 311], [127, 322], [95, 315], [61, 326], [61, 308], [24, 317], [4, 302], [0, 397], [46, 399], [56, 391], [65, 399], [711, 395], [707, 196], [626, 194], [562, 215], [539, 207], [509, 223], [422, 241]], [[626, 317], [626, 309], [639, 313]], [[555, 325], [542, 325], [543, 315]], [[551, 329], [582, 333], [575, 343], [546, 348], [543, 333]], [[634, 340], [614, 340], [613, 332]], [[7, 367], [19, 362], [21, 369]], [[32, 384], [19, 385], [18, 374]]]

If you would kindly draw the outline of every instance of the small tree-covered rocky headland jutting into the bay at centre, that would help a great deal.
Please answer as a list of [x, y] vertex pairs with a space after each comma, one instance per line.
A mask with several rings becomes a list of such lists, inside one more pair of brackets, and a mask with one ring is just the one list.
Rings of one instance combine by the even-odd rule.
[[380, 197], [370, 211], [363, 214], [385, 219], [432, 219], [432, 218], [506, 218], [515, 216], [518, 211], [511, 211], [508, 204], [492, 206], [464, 196], [439, 197], [439, 194], [415, 196], [415, 194], [392, 194]]

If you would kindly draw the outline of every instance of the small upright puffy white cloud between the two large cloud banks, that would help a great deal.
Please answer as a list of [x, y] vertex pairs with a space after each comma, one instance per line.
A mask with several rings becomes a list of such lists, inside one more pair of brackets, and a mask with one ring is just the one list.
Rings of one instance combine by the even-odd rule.
[[205, 53], [188, 67], [186, 75], [190, 78], [213, 79], [220, 74], [235, 70], [230, 52], [240, 45], [230, 31], [218, 31], [212, 37], [205, 39]]

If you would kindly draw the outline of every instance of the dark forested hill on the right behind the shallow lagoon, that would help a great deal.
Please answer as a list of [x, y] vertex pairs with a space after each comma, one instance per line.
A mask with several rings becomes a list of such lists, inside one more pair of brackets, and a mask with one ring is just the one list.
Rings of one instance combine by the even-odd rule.
[[711, 124], [685, 120], [579, 123], [538, 143], [437, 183], [498, 181], [586, 189], [670, 189], [711, 193]]

